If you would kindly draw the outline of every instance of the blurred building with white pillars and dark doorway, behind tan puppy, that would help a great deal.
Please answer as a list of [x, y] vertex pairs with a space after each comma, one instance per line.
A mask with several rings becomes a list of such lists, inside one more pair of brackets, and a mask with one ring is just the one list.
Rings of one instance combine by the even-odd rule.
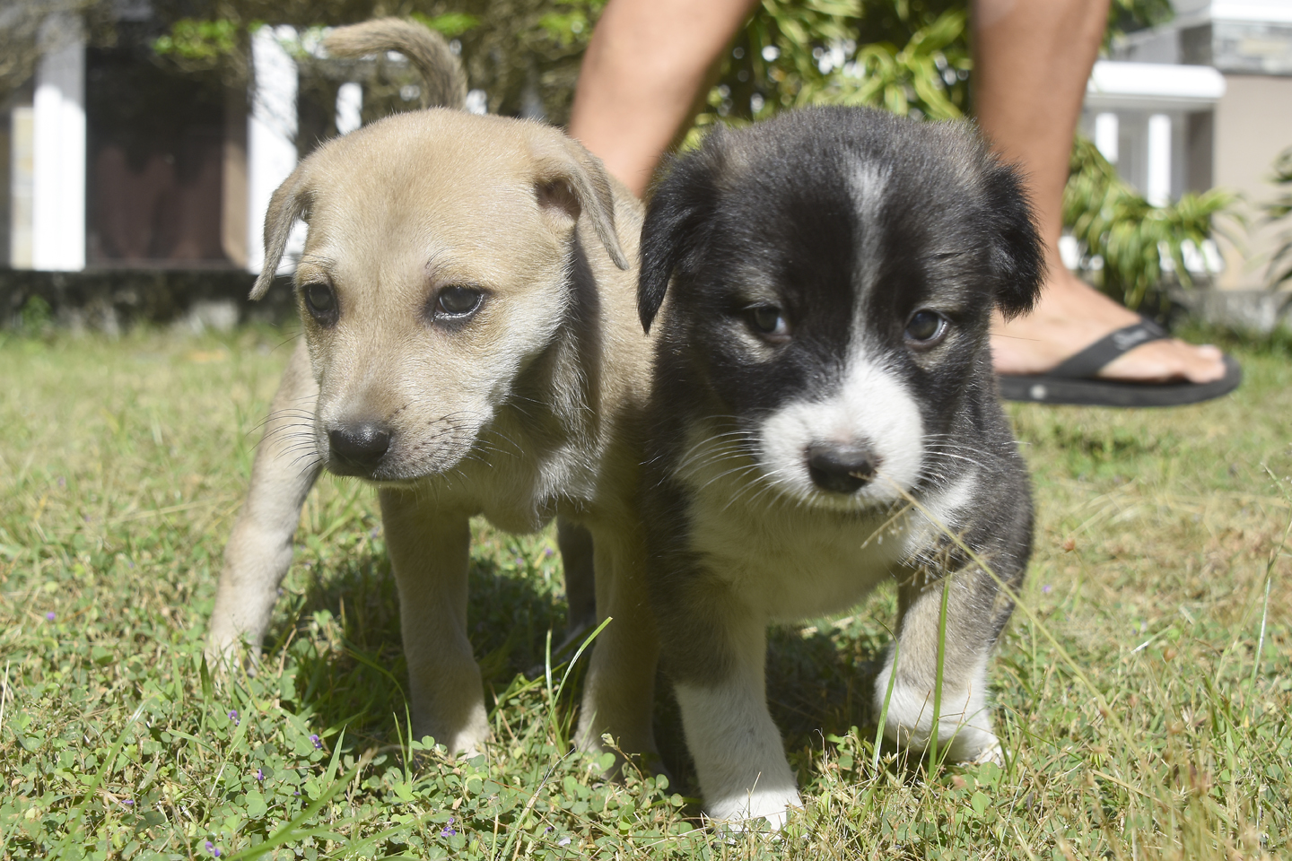
[[[295, 31], [255, 34], [244, 97], [141, 62], [146, 41], [88, 50], [66, 30], [0, 106], [0, 266], [258, 271], [269, 198], [300, 155]], [[362, 103], [341, 84], [305, 137], [358, 128]]]

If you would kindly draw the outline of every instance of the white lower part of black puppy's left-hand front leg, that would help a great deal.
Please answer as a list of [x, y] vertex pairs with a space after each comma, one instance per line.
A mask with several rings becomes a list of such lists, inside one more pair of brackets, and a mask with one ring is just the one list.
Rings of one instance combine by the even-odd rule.
[[764, 691], [751, 682], [678, 684], [677, 702], [708, 815], [735, 821], [762, 817], [779, 829], [788, 808], [802, 802]]

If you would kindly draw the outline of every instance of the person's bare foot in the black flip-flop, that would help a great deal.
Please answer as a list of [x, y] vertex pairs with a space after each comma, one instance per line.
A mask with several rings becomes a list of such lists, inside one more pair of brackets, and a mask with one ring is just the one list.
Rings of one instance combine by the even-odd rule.
[[[1057, 270], [1057, 272], [1056, 272]], [[991, 356], [1000, 374], [1041, 374], [1106, 334], [1140, 320], [1062, 266], [1031, 314], [992, 323]], [[1105, 380], [1212, 382], [1225, 376], [1221, 351], [1177, 338], [1151, 341], [1118, 356], [1098, 376]]]

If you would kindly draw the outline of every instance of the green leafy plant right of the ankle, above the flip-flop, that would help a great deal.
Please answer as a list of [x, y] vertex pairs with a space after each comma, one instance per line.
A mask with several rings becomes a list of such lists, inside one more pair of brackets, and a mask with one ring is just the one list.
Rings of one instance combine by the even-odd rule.
[[[1163, 301], [1163, 259], [1172, 261], [1182, 287], [1193, 285], [1185, 247], [1202, 248], [1212, 234], [1212, 217], [1231, 207], [1233, 194], [1212, 188], [1155, 207], [1083, 137], [1072, 146], [1070, 170], [1063, 223], [1081, 245], [1084, 268], [1105, 293], [1129, 309]], [[1090, 266], [1096, 259], [1102, 268]]]

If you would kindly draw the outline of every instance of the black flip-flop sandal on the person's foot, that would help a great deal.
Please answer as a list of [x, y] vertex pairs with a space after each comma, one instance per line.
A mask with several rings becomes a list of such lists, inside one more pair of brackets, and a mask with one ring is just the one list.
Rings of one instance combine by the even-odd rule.
[[1141, 320], [1099, 338], [1044, 374], [1001, 374], [1000, 396], [1034, 404], [1085, 407], [1180, 407], [1227, 395], [1243, 381], [1243, 369], [1225, 356], [1225, 376], [1212, 382], [1136, 382], [1096, 377], [1124, 352], [1171, 334], [1152, 320]]

